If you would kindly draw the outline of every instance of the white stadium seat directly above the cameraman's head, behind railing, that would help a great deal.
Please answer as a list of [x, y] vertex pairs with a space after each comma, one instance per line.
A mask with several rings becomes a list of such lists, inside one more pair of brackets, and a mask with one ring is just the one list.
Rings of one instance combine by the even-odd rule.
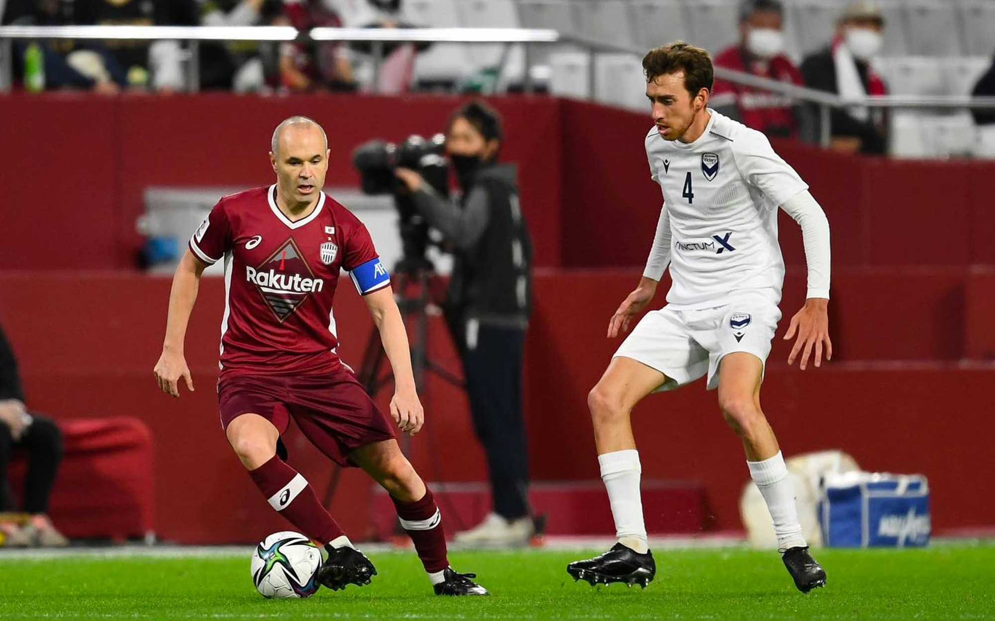
[[[467, 28], [520, 28], [518, 9], [512, 0], [463, 0], [457, 3], [459, 18]], [[504, 49], [501, 44], [481, 44], [470, 48], [470, 58], [475, 67], [497, 67]], [[500, 86], [519, 84], [525, 72], [525, 52], [521, 45], [512, 45], [507, 50], [507, 58], [498, 80]]]

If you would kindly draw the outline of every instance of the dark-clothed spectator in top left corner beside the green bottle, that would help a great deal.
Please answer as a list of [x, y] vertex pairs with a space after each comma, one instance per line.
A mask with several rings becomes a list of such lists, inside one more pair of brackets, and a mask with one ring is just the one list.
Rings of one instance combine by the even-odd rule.
[[[73, 5], [60, 0], [13, 0], [2, 16], [4, 24], [65, 26], [74, 23]], [[26, 71], [29, 50], [41, 53], [41, 68]], [[14, 80], [32, 91], [80, 89], [115, 95], [126, 86], [126, 75], [99, 41], [18, 41], [14, 45]]]

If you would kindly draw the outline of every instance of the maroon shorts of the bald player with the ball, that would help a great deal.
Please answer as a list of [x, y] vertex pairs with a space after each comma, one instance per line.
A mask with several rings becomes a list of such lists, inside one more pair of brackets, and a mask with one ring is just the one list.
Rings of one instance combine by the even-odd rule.
[[349, 453], [393, 440], [394, 425], [345, 365], [322, 375], [246, 375], [218, 384], [221, 426], [242, 414], [259, 414], [281, 434], [294, 417], [303, 435], [339, 466]]

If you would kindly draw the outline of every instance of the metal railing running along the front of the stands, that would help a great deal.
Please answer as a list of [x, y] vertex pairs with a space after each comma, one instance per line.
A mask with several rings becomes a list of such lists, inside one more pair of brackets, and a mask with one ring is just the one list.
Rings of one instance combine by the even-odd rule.
[[[588, 97], [597, 92], [596, 60], [600, 54], [632, 54], [642, 56], [645, 50], [601, 41], [564, 35], [555, 30], [531, 28], [314, 28], [307, 32], [290, 26], [0, 26], [0, 92], [11, 87], [13, 42], [38, 39], [100, 39], [182, 41], [186, 43], [186, 82], [190, 92], [196, 92], [200, 82], [199, 45], [204, 41], [256, 41], [256, 42], [365, 42], [371, 46], [374, 75], [379, 73], [384, 59], [384, 48], [389, 43], [464, 43], [464, 44], [520, 44], [524, 48], [525, 71], [522, 76], [526, 93], [534, 90], [532, 80], [534, 50], [536, 46], [569, 44], [584, 50], [588, 55]], [[502, 65], [507, 59], [502, 55]], [[498, 75], [503, 71], [498, 68]], [[735, 84], [746, 85], [783, 95], [799, 102], [816, 105], [819, 109], [819, 135], [823, 145], [830, 140], [830, 112], [834, 107], [863, 105], [904, 109], [975, 108], [995, 109], [995, 97], [968, 96], [884, 96], [841, 98], [837, 95], [815, 91], [792, 84], [758, 78], [750, 74], [715, 68], [715, 76]]]

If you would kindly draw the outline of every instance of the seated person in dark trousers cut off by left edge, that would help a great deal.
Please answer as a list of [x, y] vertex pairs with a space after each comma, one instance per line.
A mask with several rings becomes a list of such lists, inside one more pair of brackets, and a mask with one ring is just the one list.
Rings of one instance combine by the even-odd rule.
[[17, 373], [17, 361], [0, 329], [0, 514], [15, 512], [7, 465], [14, 449], [28, 453], [28, 475], [24, 482], [25, 523], [0, 521], [4, 545], [64, 546], [69, 540], [48, 517], [49, 495], [62, 459], [62, 433], [56, 424], [29, 412]]

